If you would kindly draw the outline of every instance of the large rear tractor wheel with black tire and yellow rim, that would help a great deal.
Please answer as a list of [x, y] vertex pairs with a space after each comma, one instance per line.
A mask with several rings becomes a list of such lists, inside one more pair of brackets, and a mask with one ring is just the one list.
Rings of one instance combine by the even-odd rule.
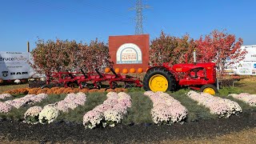
[[164, 67], [153, 67], [147, 70], [143, 78], [143, 88], [144, 90], [151, 91], [174, 91], [175, 90], [175, 80], [173, 74]]

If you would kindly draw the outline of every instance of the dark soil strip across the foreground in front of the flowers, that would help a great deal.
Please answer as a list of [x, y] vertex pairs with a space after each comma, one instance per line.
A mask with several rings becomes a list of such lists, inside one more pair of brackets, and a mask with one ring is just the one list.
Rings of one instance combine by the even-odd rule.
[[166, 139], [214, 138], [256, 127], [256, 111], [246, 111], [230, 118], [176, 123], [172, 126], [153, 124], [118, 125], [115, 127], [85, 130], [82, 123], [54, 122], [49, 125], [28, 125], [23, 122], [1, 119], [0, 142], [67, 142], [67, 143], [137, 143], [162, 142]]

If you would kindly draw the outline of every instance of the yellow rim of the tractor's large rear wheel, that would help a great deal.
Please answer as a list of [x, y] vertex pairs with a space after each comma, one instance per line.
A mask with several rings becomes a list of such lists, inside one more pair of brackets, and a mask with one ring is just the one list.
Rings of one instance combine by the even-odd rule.
[[150, 90], [156, 91], [166, 91], [168, 89], [168, 81], [166, 77], [161, 74], [155, 74], [150, 78], [149, 81]]

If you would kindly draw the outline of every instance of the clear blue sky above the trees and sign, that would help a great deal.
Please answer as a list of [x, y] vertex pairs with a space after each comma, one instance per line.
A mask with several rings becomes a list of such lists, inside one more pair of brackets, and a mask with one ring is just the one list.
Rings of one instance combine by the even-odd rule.
[[[0, 0], [0, 51], [33, 49], [38, 38], [108, 42], [110, 35], [134, 34], [136, 0]], [[191, 38], [226, 29], [256, 45], [254, 0], [143, 0], [144, 34], [161, 30]]]

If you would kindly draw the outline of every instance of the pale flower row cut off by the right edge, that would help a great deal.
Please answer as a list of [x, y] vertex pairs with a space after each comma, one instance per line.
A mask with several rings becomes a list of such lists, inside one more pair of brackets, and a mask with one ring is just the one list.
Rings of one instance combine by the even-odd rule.
[[241, 100], [242, 102], [246, 102], [249, 106], [256, 106], [256, 94], [229, 94], [228, 96]]

